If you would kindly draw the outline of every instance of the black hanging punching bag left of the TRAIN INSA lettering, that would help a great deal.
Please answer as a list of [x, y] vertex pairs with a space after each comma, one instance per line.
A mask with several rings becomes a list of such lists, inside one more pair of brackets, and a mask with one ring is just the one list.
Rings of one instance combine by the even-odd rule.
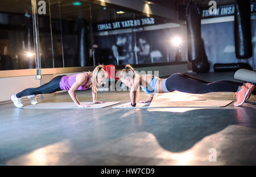
[[188, 33], [188, 61], [201, 60], [201, 11], [197, 2], [188, 2], [186, 7]]

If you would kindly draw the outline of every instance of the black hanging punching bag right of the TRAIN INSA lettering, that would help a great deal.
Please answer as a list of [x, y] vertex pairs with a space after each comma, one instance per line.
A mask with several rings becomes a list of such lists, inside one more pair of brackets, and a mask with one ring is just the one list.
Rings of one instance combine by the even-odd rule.
[[250, 58], [253, 55], [251, 44], [250, 0], [237, 0], [234, 14], [234, 39], [237, 58]]

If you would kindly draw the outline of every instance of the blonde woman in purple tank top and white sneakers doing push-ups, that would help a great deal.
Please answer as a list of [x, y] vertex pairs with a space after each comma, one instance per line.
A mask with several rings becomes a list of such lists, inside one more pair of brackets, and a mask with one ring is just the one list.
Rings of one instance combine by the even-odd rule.
[[53, 78], [48, 83], [37, 87], [37, 88], [27, 88], [18, 94], [14, 94], [11, 96], [11, 101], [14, 102], [16, 107], [23, 107], [21, 99], [23, 96], [27, 96], [30, 99], [31, 104], [37, 104], [35, 96], [38, 94], [51, 94], [60, 90], [68, 90], [68, 94], [70, 95], [73, 102], [78, 107], [89, 107], [89, 105], [83, 105], [79, 102], [76, 97], [77, 90], [86, 90], [92, 87], [92, 96], [93, 103], [104, 103], [97, 102], [97, 86], [102, 85], [102, 83], [106, 79], [106, 73], [103, 65], [97, 66], [93, 72], [87, 73], [79, 73], [73, 74], [71, 76], [68, 75], [59, 75]]

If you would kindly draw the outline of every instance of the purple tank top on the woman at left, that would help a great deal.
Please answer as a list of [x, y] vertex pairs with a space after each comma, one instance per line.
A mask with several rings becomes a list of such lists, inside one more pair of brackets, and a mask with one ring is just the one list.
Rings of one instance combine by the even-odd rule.
[[[77, 88], [77, 90], [86, 90], [88, 89], [86, 87], [88, 81], [90, 80], [90, 75], [88, 73], [86, 73], [88, 78], [87, 78], [87, 81], [85, 82], [84, 85], [81, 85], [79, 88]], [[61, 90], [69, 90], [72, 85], [76, 82], [76, 75], [77, 74], [73, 74], [71, 76], [68, 76], [68, 75], [65, 75], [63, 76], [61, 79], [60, 79], [60, 89]]]

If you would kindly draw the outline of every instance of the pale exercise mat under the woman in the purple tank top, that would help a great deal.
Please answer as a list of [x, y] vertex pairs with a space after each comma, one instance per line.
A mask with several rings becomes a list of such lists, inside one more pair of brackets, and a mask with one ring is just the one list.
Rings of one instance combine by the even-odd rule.
[[80, 108], [73, 102], [48, 102], [25, 106], [22, 107], [22, 109], [94, 109], [108, 107], [118, 103], [121, 102], [105, 102], [98, 104], [94, 104], [93, 102], [82, 102], [81, 104], [89, 104], [90, 107]]

